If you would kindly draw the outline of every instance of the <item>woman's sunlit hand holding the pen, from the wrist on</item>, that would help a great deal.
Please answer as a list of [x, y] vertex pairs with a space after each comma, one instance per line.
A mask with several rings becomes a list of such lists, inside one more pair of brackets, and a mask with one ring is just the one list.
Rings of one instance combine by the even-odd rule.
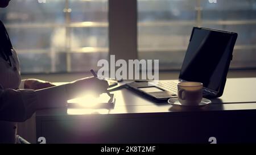
[[105, 93], [109, 84], [103, 79], [97, 77], [81, 78], [66, 85], [68, 98], [76, 98], [86, 93], [100, 95]]

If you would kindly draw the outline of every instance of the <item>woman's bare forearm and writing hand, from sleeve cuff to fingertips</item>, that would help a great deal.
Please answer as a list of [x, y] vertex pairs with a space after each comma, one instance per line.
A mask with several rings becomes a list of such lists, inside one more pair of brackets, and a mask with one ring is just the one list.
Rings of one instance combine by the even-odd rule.
[[38, 108], [63, 107], [69, 99], [81, 97], [84, 94], [98, 95], [105, 93], [108, 82], [96, 77], [82, 78], [65, 85], [48, 87], [36, 90], [38, 95]]

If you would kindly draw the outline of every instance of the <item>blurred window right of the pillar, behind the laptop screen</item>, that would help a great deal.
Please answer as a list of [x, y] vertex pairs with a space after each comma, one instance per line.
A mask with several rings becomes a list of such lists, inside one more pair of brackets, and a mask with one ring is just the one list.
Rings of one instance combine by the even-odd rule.
[[256, 68], [255, 0], [138, 0], [139, 58], [180, 69], [193, 26], [237, 32], [230, 68]]

